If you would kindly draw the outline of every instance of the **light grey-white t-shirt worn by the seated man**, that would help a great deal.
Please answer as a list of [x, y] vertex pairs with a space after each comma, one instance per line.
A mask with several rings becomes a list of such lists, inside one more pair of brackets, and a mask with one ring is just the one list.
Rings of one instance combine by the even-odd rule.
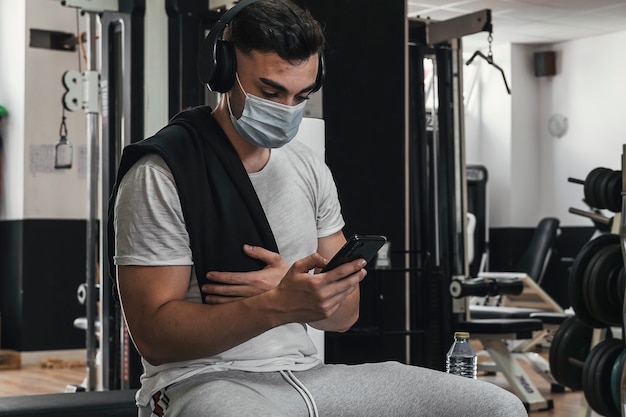
[[[318, 238], [343, 228], [330, 170], [306, 145], [291, 142], [272, 149], [267, 165], [249, 177], [288, 264], [316, 252]], [[158, 155], [140, 159], [121, 181], [115, 230], [116, 265], [193, 265], [176, 184]], [[202, 302], [193, 268], [185, 298]], [[310, 369], [319, 363], [316, 353], [306, 325], [290, 323], [213, 357], [160, 366], [143, 360], [137, 400], [145, 405], [154, 392], [203, 372]]]

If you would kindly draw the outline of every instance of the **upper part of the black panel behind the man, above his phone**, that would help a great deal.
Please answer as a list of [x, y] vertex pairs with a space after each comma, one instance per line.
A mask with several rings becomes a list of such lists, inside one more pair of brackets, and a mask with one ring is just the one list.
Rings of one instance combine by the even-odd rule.
[[[393, 247], [402, 249], [404, 1], [368, 2], [367, 7], [350, 1], [309, 3], [328, 38], [326, 158], [337, 182], [346, 233], [385, 234]], [[381, 21], [389, 23], [384, 31], [376, 30]]]

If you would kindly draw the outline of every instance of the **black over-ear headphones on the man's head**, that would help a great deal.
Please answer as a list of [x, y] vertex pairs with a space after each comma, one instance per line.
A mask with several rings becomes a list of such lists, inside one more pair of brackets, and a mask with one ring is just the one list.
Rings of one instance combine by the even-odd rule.
[[[211, 91], [225, 93], [231, 89], [235, 82], [237, 71], [237, 57], [235, 47], [230, 41], [222, 39], [222, 33], [231, 20], [243, 9], [256, 3], [258, 0], [242, 0], [233, 8], [222, 15], [220, 20], [211, 28], [211, 31], [204, 39], [198, 54], [198, 75], [200, 81], [207, 84]], [[325, 75], [324, 56], [320, 52], [317, 78], [315, 87], [311, 92], [315, 92], [322, 87]]]

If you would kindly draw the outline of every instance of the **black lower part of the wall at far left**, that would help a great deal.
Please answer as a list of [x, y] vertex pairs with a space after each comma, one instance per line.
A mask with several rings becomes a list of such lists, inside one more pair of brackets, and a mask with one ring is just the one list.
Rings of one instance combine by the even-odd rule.
[[0, 231], [2, 348], [84, 348], [73, 322], [85, 315], [76, 297], [85, 281], [85, 222], [7, 221]]

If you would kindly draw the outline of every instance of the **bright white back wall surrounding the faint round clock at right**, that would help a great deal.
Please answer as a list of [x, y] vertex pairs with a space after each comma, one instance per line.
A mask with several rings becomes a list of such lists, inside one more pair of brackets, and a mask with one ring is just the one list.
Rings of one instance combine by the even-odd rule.
[[[620, 51], [625, 43], [626, 32], [620, 32], [556, 44], [558, 73], [540, 80], [542, 169], [550, 179], [541, 189], [542, 211], [556, 213], [565, 224], [590, 225], [567, 213], [569, 207], [587, 209], [582, 186], [567, 182], [568, 177], [585, 179], [599, 166], [621, 170], [626, 56]], [[560, 139], [547, 131], [553, 113], [568, 117], [569, 131]]]

